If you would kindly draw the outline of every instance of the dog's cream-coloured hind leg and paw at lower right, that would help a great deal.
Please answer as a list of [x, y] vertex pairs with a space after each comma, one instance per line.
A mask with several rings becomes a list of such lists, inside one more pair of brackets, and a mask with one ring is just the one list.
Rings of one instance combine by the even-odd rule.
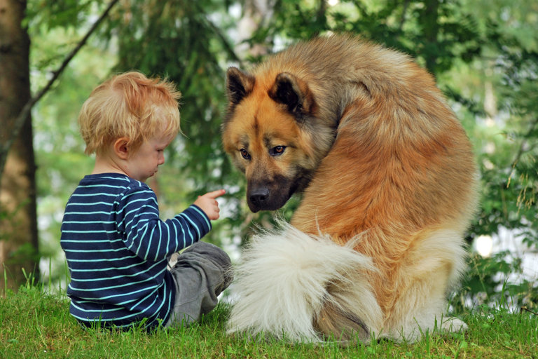
[[425, 332], [465, 330], [457, 318], [446, 318], [447, 290], [458, 282], [465, 264], [463, 240], [450, 229], [425, 231], [399, 270], [399, 295], [384, 323], [384, 336], [416, 341]]

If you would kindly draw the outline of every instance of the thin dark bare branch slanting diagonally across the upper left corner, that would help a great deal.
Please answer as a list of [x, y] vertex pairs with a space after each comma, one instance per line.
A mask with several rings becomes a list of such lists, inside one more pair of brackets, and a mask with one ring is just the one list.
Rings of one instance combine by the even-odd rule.
[[11, 131], [11, 136], [8, 138], [6, 143], [0, 148], [0, 178], [2, 177], [2, 174], [4, 173], [4, 166], [6, 165], [6, 160], [8, 158], [8, 152], [11, 149], [11, 146], [13, 145], [13, 142], [17, 139], [20, 130], [22, 126], [25, 125], [25, 122], [27, 119], [29, 119], [30, 111], [32, 110], [32, 107], [34, 107], [34, 104], [41, 100], [41, 97], [47, 93], [47, 91], [50, 89], [51, 86], [53, 86], [53, 83], [60, 77], [60, 74], [64, 72], [64, 69], [67, 67], [69, 62], [73, 59], [73, 57], [78, 53], [78, 50], [80, 50], [88, 41], [88, 38], [91, 36], [93, 32], [95, 32], [95, 29], [99, 27], [100, 23], [106, 18], [106, 15], [109, 14], [111, 8], [113, 8], [116, 3], [118, 3], [119, 0], [112, 0], [110, 1], [109, 6], [106, 7], [106, 10], [99, 16], [96, 22], [90, 27], [88, 32], [85, 34], [85, 36], [81, 39], [81, 41], [77, 44], [76, 48], [71, 50], [71, 53], [65, 57], [64, 61], [62, 62], [62, 65], [58, 67], [56, 71], [53, 71], [53, 77], [48, 81], [46, 86], [44, 86], [34, 97], [32, 97], [28, 102], [25, 104], [24, 107], [22, 107], [22, 110], [19, 113], [19, 116], [15, 118], [15, 123], [13, 123], [13, 130]]

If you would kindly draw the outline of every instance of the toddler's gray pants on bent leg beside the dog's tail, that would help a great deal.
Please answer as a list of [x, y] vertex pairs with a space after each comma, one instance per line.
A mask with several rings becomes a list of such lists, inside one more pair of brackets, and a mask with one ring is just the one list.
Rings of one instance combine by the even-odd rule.
[[209, 313], [233, 279], [230, 257], [216, 245], [197, 242], [170, 269], [176, 285], [174, 310], [165, 327], [188, 325]]

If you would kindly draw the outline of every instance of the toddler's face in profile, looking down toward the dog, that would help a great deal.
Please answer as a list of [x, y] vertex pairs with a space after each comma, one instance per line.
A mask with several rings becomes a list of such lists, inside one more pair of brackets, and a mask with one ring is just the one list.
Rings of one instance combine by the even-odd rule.
[[157, 135], [127, 158], [127, 175], [145, 182], [155, 175], [159, 165], [165, 163], [164, 149], [172, 142], [173, 136]]

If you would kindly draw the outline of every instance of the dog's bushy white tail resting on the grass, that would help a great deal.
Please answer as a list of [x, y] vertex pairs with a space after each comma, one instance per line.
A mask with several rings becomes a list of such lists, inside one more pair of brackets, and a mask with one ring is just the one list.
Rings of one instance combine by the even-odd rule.
[[368, 341], [382, 321], [366, 280], [366, 271], [375, 271], [371, 259], [353, 250], [355, 241], [342, 246], [283, 227], [255, 236], [244, 250], [228, 332]]

